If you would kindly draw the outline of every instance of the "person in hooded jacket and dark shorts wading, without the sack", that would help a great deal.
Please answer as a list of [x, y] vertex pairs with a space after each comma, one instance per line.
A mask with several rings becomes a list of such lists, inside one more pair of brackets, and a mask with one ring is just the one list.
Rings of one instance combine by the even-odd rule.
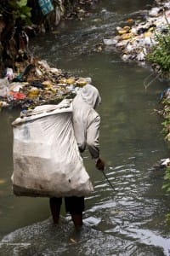
[[[100, 102], [99, 90], [91, 84], [86, 84], [72, 102], [72, 122], [80, 152], [82, 153], [88, 147], [96, 167], [99, 170], [104, 170], [105, 163], [99, 157], [100, 117], [99, 113], [95, 111]], [[52, 197], [49, 199], [49, 204], [54, 224], [58, 224], [62, 198]], [[76, 229], [82, 226], [84, 208], [84, 196], [65, 197], [65, 211], [71, 213]]]

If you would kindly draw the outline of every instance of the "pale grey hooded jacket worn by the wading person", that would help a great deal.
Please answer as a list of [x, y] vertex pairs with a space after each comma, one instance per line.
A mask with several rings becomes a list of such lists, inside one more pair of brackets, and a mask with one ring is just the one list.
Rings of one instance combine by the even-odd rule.
[[99, 158], [100, 117], [94, 108], [101, 102], [99, 90], [86, 84], [72, 102], [73, 128], [81, 152], [88, 146], [92, 158]]

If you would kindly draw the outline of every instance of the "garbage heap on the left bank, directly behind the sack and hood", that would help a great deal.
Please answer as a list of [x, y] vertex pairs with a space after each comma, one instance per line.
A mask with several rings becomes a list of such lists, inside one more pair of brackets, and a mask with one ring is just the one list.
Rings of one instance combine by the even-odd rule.
[[7, 67], [0, 79], [0, 108], [33, 108], [71, 98], [90, 78], [80, 78], [50, 67], [47, 61], [34, 60], [22, 73]]

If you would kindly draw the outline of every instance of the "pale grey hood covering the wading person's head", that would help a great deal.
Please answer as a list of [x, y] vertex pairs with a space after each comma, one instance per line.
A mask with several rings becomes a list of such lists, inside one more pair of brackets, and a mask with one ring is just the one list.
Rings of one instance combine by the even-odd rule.
[[101, 103], [101, 97], [99, 96], [99, 90], [95, 88], [92, 84], [86, 84], [82, 87], [80, 91], [80, 95], [82, 96], [82, 100], [92, 108], [96, 108]]

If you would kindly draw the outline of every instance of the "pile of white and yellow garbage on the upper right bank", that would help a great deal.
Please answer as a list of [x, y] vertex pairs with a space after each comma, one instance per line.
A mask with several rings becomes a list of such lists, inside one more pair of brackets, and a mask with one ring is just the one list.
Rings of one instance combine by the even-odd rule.
[[[158, 2], [157, 2], [158, 3]], [[123, 27], [116, 27], [114, 38], [105, 38], [105, 45], [114, 45], [122, 52], [123, 61], [139, 61], [145, 64], [146, 55], [156, 44], [156, 36], [166, 33], [170, 24], [170, 3], [159, 3], [148, 11], [146, 20], [127, 20]]]

